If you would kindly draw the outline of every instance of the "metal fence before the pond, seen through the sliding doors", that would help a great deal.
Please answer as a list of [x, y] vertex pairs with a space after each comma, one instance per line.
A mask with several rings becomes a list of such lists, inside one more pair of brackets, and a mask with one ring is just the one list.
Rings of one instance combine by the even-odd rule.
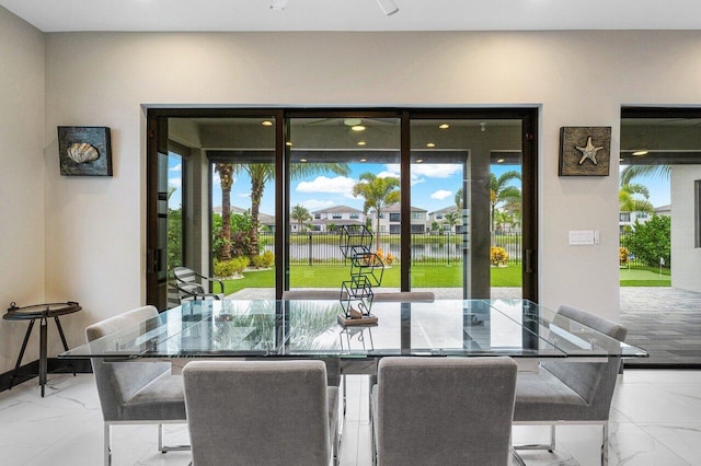
[[[261, 244], [274, 252], [275, 236], [272, 233], [261, 234]], [[384, 263], [388, 254], [394, 263], [401, 261], [400, 235], [380, 234], [379, 247], [382, 249]], [[377, 238], [371, 251], [377, 251]], [[507, 263], [519, 264], [521, 260], [521, 234], [504, 233], [493, 237], [493, 244], [503, 247], [508, 254]], [[414, 233], [411, 235], [412, 260], [414, 264], [444, 266], [462, 261], [463, 248], [469, 249], [469, 242], [463, 242], [460, 234]], [[292, 265], [349, 266], [340, 247], [340, 235], [334, 233], [295, 233], [289, 237], [289, 258]]]

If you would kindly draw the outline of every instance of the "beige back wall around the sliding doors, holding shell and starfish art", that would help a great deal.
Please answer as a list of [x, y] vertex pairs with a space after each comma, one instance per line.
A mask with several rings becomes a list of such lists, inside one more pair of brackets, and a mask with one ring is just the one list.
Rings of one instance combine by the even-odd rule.
[[[46, 81], [46, 293], [91, 322], [145, 301], [143, 104], [540, 106], [540, 301], [618, 318], [620, 108], [701, 105], [701, 32], [49, 34]], [[60, 177], [59, 125], [110, 126], [114, 177]], [[612, 127], [611, 176], [558, 177], [562, 126]]]

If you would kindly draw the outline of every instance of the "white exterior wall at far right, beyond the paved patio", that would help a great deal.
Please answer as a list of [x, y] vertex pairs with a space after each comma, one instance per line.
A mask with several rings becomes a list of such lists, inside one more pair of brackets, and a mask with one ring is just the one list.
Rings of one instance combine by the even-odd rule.
[[697, 179], [701, 166], [671, 167], [671, 286], [701, 292], [701, 248], [694, 242]]

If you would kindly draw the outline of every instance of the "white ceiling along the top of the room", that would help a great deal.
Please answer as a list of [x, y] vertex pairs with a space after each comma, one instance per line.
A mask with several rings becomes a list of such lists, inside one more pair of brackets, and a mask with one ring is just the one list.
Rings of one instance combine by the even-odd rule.
[[44, 32], [700, 30], [699, 0], [0, 0]]

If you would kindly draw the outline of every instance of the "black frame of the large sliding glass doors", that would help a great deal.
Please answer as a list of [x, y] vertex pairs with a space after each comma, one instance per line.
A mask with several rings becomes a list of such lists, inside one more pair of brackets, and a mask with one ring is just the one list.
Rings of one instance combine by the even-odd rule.
[[[286, 174], [289, 172], [289, 153], [285, 143], [289, 128], [289, 118], [312, 117], [368, 117], [393, 116], [401, 120], [401, 234], [411, 235], [411, 144], [410, 125], [412, 119], [520, 119], [521, 120], [521, 247], [522, 247], [522, 283], [524, 299], [538, 302], [538, 107], [519, 108], [381, 108], [381, 107], [341, 107], [341, 108], [148, 108], [147, 109], [147, 163], [146, 163], [146, 301], [159, 310], [165, 308], [165, 296], [159, 291], [158, 271], [164, 267], [163, 252], [158, 245], [158, 154], [168, 153], [168, 118], [235, 118], [265, 116], [275, 118], [275, 288], [279, 299], [284, 289], [288, 288], [289, 277], [286, 273], [289, 252], [286, 248], [289, 229], [289, 184]], [[211, 207], [211, 206], [210, 206]], [[281, 214], [278, 214], [280, 212]], [[210, 240], [211, 241], [211, 240]], [[211, 246], [211, 245], [210, 245]], [[402, 241], [401, 253], [410, 257], [411, 242]], [[407, 291], [411, 261], [401, 265], [401, 288]], [[207, 271], [211, 273], [211, 270]]]

